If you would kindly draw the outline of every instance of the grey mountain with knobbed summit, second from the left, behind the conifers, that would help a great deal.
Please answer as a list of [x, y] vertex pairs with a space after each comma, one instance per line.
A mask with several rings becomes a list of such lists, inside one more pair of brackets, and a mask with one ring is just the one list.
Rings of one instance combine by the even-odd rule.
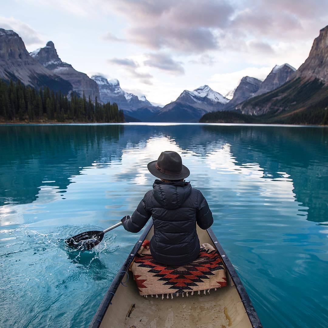
[[72, 65], [64, 63], [58, 56], [52, 41], [49, 41], [44, 48], [37, 49], [30, 53], [31, 57], [37, 60], [48, 70], [59, 75], [61, 78], [69, 81], [73, 86], [73, 91], [79, 96], [83, 96], [83, 92], [88, 99], [92, 101], [100, 99], [99, 88], [87, 74], [76, 71]]

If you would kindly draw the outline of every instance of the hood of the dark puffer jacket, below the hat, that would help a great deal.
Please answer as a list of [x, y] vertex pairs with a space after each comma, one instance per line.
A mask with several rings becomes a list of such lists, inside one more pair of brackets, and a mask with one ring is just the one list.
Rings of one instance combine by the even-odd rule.
[[158, 203], [168, 210], [181, 207], [191, 194], [190, 182], [162, 182], [155, 180], [153, 184], [153, 195]]

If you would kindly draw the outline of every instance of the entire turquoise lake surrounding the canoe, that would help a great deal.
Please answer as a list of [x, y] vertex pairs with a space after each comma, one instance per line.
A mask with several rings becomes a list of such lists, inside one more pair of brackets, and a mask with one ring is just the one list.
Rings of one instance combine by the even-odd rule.
[[328, 326], [328, 128], [2, 125], [0, 140], [0, 327], [88, 327], [140, 234], [63, 241], [131, 215], [165, 150], [207, 198], [263, 326]]

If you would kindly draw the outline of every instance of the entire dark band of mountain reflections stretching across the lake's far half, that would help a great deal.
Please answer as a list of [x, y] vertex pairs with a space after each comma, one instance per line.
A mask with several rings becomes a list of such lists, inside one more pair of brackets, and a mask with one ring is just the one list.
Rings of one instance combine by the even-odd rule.
[[[0, 205], [5, 201], [34, 201], [43, 181], [55, 181], [46, 184], [64, 190], [71, 183], [70, 177], [80, 174], [82, 167], [95, 162], [102, 165], [122, 162], [126, 149], [163, 136], [174, 140], [183, 152], [201, 157], [229, 144], [239, 164], [258, 163], [264, 174], [272, 178], [281, 177], [277, 172], [291, 175], [296, 199], [309, 207], [308, 219], [324, 221], [328, 209], [317, 204], [320, 198], [322, 204], [327, 195], [318, 195], [316, 191], [325, 190], [328, 178], [327, 168], [322, 164], [327, 163], [327, 149], [323, 149], [327, 146], [327, 132], [320, 128], [196, 124], [3, 126]], [[318, 155], [323, 157], [318, 159]], [[140, 156], [137, 150], [135, 156]], [[132, 169], [133, 165], [131, 158]], [[119, 179], [131, 179], [131, 174], [122, 172]]]

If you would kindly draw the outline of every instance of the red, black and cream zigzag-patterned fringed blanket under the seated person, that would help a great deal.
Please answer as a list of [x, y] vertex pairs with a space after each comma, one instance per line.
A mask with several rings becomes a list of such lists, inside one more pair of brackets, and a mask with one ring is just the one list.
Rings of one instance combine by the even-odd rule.
[[149, 240], [145, 239], [131, 266], [133, 278], [142, 296], [178, 294], [204, 291], [227, 285], [225, 270], [217, 251], [210, 244], [203, 244], [199, 257], [190, 264], [167, 266], [153, 259], [149, 250]]

